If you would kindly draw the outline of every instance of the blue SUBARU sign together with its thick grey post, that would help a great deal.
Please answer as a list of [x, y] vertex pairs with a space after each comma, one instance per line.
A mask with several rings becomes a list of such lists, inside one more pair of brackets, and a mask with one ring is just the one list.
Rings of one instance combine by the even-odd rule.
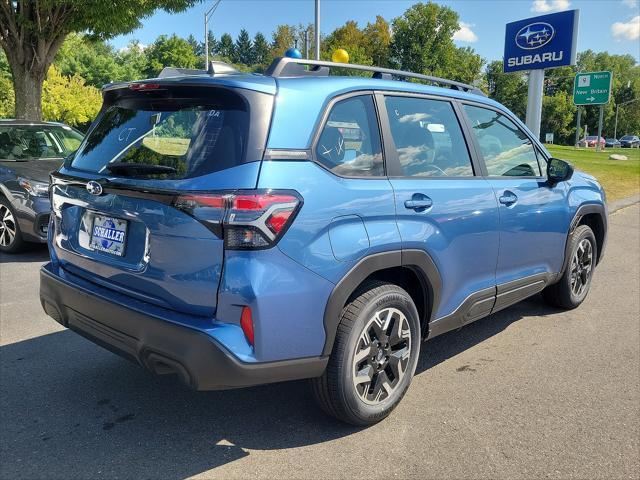
[[529, 70], [527, 119], [529, 129], [540, 138], [544, 70], [575, 65], [578, 10], [541, 15], [507, 24], [504, 72]]

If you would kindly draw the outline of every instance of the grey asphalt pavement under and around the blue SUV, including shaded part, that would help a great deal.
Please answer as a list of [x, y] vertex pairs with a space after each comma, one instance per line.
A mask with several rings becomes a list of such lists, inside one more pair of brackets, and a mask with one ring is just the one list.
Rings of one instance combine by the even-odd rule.
[[640, 209], [611, 217], [590, 297], [437, 338], [391, 418], [346, 427], [303, 382], [193, 393], [41, 312], [46, 252], [1, 258], [0, 477], [638, 478]]

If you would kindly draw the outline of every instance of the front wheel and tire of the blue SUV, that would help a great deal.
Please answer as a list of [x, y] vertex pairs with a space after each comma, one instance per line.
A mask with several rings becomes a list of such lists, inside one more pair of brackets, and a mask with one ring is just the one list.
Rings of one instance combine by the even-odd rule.
[[[589, 243], [590, 251], [584, 250], [585, 242]], [[579, 251], [580, 250], [580, 251]], [[548, 286], [542, 291], [542, 296], [550, 305], [564, 309], [578, 307], [589, 293], [591, 279], [598, 258], [598, 245], [596, 237], [587, 225], [578, 226], [569, 238], [567, 267], [560, 281]], [[582, 254], [581, 254], [582, 252]], [[588, 253], [588, 271], [585, 271]], [[577, 264], [576, 264], [577, 262]]]

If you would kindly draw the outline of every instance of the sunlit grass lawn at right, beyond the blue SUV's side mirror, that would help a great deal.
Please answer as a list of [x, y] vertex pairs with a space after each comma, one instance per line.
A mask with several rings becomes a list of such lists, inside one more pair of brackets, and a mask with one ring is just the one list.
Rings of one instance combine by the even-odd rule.
[[[556, 158], [571, 162], [578, 170], [598, 179], [607, 193], [607, 200], [618, 200], [640, 192], [640, 148], [607, 148], [596, 152], [594, 148], [546, 145]], [[629, 160], [609, 160], [619, 153]]]

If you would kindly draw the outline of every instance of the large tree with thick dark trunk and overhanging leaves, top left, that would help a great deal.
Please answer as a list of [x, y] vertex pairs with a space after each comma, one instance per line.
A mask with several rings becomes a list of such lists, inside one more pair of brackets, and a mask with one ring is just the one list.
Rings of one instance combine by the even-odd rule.
[[199, 0], [0, 0], [0, 45], [15, 90], [16, 117], [42, 118], [42, 84], [67, 35], [128, 33], [157, 9], [182, 11]]

